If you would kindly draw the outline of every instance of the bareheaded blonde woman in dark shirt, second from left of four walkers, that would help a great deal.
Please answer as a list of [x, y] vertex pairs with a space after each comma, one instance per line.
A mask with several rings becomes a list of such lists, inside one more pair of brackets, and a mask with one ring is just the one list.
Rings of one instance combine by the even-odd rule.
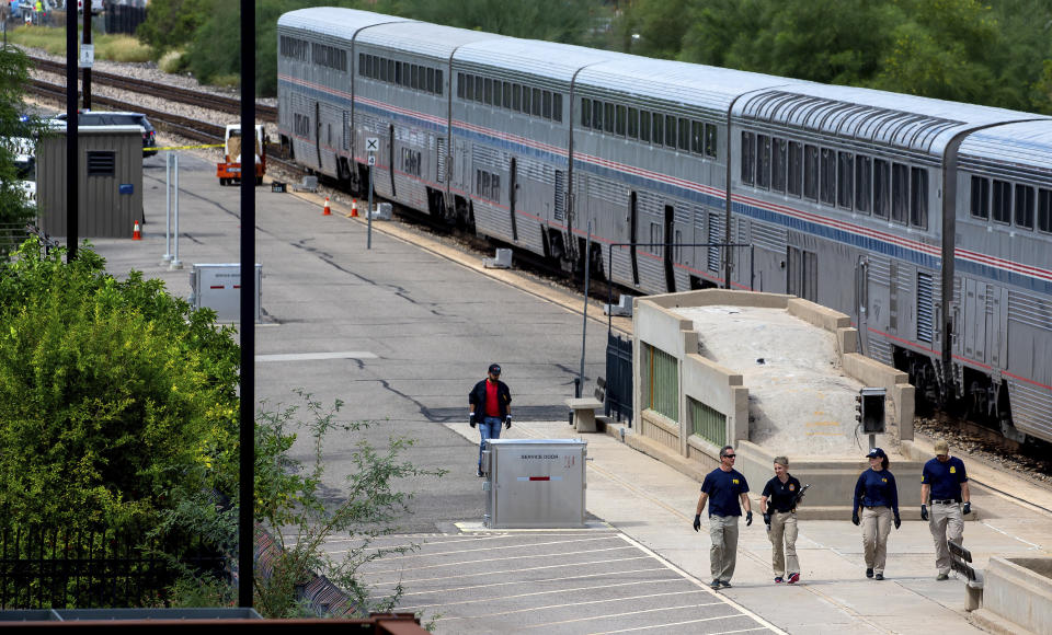
[[[794, 585], [800, 580], [797, 558], [797, 505], [803, 496], [800, 481], [789, 474], [789, 459], [775, 457], [775, 476], [764, 485], [759, 512], [770, 539], [770, 563], [775, 582]], [[788, 573], [788, 575], [786, 575]]]

